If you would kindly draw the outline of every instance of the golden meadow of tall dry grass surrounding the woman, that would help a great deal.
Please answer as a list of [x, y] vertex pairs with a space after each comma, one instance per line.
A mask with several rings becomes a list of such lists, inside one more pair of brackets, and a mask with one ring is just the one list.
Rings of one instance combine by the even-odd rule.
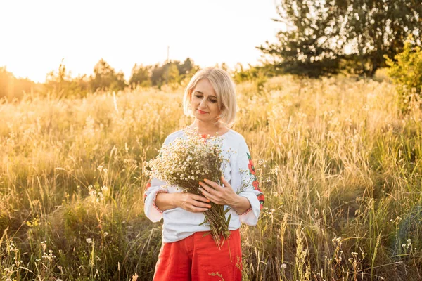
[[[266, 197], [241, 228], [243, 280], [422, 280], [421, 105], [403, 114], [392, 84], [347, 77], [237, 90]], [[143, 167], [190, 124], [182, 96], [1, 100], [0, 280], [152, 279]]]

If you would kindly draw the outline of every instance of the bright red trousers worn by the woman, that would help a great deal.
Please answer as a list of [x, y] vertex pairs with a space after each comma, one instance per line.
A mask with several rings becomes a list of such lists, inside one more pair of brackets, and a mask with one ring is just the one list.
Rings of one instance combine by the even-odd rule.
[[242, 249], [239, 230], [231, 231], [221, 249], [207, 232], [183, 240], [162, 243], [154, 281], [242, 280]]

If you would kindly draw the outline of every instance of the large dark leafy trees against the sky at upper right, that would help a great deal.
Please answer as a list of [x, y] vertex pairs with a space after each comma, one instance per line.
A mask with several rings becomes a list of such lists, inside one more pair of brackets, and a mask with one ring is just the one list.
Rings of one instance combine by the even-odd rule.
[[308, 76], [336, 73], [345, 61], [372, 75], [383, 55], [393, 57], [408, 34], [422, 32], [419, 0], [279, 0], [277, 12], [286, 28], [257, 48], [284, 72]]

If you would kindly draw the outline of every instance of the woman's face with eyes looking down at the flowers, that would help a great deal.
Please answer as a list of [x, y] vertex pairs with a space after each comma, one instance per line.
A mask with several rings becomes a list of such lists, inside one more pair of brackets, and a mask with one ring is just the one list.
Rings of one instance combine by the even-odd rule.
[[200, 79], [192, 91], [192, 112], [196, 119], [203, 122], [216, 122], [220, 110], [217, 94], [208, 79]]

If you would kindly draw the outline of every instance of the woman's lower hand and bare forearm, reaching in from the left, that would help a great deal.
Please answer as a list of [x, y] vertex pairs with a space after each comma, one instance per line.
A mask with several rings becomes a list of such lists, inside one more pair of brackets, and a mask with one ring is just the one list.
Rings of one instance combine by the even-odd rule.
[[200, 213], [203, 211], [207, 211], [211, 208], [209, 204], [210, 200], [201, 196], [195, 195], [192, 193], [184, 193], [184, 192], [177, 192], [177, 193], [158, 193], [157, 197], [155, 197], [155, 205], [161, 211], [166, 211], [170, 209], [174, 209], [176, 207], [180, 207], [186, 211], [191, 211], [193, 213]]

